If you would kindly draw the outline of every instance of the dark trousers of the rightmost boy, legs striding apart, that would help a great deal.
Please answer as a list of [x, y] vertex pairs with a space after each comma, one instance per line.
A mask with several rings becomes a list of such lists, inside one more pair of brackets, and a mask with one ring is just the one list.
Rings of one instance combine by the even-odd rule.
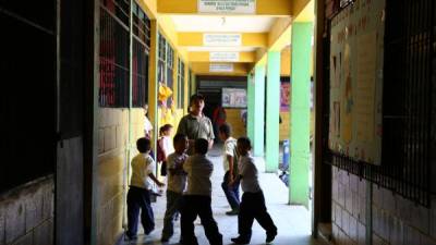
[[267, 234], [277, 232], [271, 217], [266, 210], [264, 193], [244, 193], [238, 215], [238, 232], [241, 238], [250, 242], [254, 219], [261, 224]]

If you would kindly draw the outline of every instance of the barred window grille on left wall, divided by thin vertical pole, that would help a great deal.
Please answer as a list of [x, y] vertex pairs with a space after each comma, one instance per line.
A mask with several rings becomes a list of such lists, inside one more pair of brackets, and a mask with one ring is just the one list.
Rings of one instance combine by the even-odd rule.
[[[100, 1], [100, 87], [101, 107], [142, 107], [148, 99], [148, 59], [150, 21], [145, 12], [132, 5], [132, 71], [130, 59], [130, 1]], [[132, 72], [132, 98], [129, 75]]]

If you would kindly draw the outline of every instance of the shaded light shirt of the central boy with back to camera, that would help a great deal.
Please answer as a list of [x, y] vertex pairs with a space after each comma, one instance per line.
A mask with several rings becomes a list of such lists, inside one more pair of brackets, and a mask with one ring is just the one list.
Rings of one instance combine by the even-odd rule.
[[195, 154], [189, 157], [183, 170], [187, 173], [186, 195], [211, 195], [210, 176], [214, 164], [206, 156]]

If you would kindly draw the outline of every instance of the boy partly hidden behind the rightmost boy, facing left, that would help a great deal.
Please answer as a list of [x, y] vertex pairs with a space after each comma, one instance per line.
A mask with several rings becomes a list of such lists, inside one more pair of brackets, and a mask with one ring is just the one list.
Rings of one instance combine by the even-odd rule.
[[[227, 200], [230, 204], [231, 211], [226, 212], [228, 216], [235, 216], [239, 212], [239, 181], [233, 182], [238, 176], [238, 152], [237, 152], [237, 139], [231, 137], [231, 126], [227, 123], [221, 124], [218, 128], [219, 138], [225, 142], [223, 145], [223, 168], [225, 177], [221, 184], [222, 191], [225, 191]], [[229, 183], [233, 182], [232, 186]]]

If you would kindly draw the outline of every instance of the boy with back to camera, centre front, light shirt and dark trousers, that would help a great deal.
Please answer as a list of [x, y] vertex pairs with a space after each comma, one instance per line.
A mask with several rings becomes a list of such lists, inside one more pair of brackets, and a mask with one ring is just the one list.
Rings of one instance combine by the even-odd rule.
[[211, 207], [211, 183], [210, 175], [214, 164], [206, 158], [209, 142], [198, 138], [194, 144], [195, 154], [187, 158], [183, 164], [187, 173], [187, 188], [183, 196], [182, 205], [182, 237], [181, 244], [197, 245], [194, 234], [194, 220], [197, 216], [202, 220], [206, 237], [211, 245], [222, 245], [222, 235], [218, 231]]

